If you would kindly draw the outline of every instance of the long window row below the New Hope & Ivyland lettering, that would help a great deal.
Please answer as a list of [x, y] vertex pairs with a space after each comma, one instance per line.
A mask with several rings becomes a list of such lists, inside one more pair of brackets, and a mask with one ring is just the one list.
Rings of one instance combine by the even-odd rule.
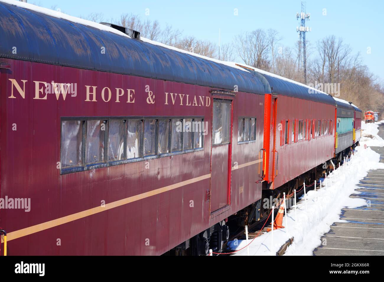
[[203, 119], [62, 120], [61, 169], [203, 148]]

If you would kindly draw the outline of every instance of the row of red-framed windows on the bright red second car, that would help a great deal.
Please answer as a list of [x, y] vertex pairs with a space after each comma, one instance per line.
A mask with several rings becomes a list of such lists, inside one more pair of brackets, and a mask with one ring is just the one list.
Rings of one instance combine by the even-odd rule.
[[[285, 120], [281, 121], [281, 125], [281, 146], [298, 140], [311, 140], [318, 136], [333, 134], [332, 120]], [[281, 138], [283, 136], [284, 139]]]

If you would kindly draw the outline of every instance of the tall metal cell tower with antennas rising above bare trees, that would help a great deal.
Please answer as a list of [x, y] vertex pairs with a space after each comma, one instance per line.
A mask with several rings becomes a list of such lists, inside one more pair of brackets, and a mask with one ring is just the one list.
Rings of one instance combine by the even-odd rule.
[[[296, 31], [299, 33], [299, 65], [300, 69], [301, 62], [303, 63], [304, 69], [304, 81], [307, 84], [307, 64], [306, 64], [306, 49], [305, 49], [305, 33], [310, 32], [312, 28], [305, 26], [305, 21], [309, 21], [311, 18], [311, 13], [306, 13], [306, 2], [301, 2], [301, 13], [296, 13], [296, 18], [300, 19], [300, 26], [296, 26]], [[301, 52], [303, 49], [303, 52]], [[302, 57], [302, 58], [301, 58]]]

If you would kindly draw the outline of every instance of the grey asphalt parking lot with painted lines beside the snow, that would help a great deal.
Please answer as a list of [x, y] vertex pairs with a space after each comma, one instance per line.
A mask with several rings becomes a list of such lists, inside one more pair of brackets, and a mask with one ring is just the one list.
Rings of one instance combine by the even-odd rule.
[[[384, 125], [379, 126], [384, 139]], [[381, 155], [384, 148], [371, 147]], [[384, 170], [370, 170], [350, 197], [364, 198], [370, 205], [342, 209], [340, 219], [347, 223], [333, 223], [331, 230], [321, 237], [322, 246], [314, 249], [315, 256], [384, 256]]]

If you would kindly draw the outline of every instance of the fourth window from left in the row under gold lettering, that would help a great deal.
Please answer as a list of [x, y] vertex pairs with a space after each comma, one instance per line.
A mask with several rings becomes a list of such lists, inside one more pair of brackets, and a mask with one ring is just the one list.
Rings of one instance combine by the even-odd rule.
[[127, 158], [141, 157], [141, 132], [142, 120], [129, 119], [127, 120]]

